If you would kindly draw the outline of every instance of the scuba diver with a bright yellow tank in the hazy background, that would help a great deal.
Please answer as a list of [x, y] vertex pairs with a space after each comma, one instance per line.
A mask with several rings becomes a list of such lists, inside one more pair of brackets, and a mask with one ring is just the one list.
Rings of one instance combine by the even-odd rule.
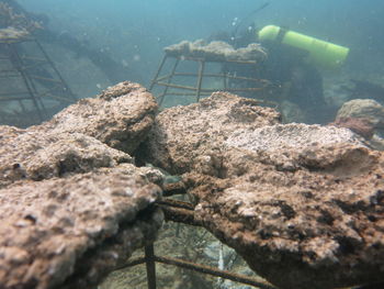
[[[250, 15], [255, 16], [267, 7], [268, 3], [262, 4]], [[245, 18], [248, 19], [249, 15]], [[319, 68], [339, 67], [348, 55], [348, 48], [285, 27], [268, 25], [258, 30], [251, 24], [240, 30], [241, 24], [244, 21], [235, 26], [231, 34], [216, 34], [213, 40], [228, 42], [235, 48], [261, 43], [268, 57], [257, 70], [235, 66], [229, 69], [240, 76], [269, 80], [272, 87], [267, 88], [268, 98], [280, 103], [289, 101], [296, 104], [305, 114], [306, 123], [331, 121], [336, 111], [325, 101]]]

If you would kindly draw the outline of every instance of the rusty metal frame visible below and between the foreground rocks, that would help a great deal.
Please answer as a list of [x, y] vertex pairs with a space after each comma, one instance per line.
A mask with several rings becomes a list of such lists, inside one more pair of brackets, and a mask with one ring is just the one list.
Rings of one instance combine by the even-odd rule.
[[[169, 184], [163, 190], [165, 197], [185, 193], [187, 191], [182, 182]], [[166, 200], [158, 201], [156, 205], [162, 209], [166, 221], [184, 223], [194, 226], [202, 226], [202, 223], [194, 219], [193, 205], [189, 202], [178, 201], [168, 198]], [[117, 267], [116, 270], [134, 267], [140, 264], [146, 264], [148, 289], [156, 289], [156, 263], [177, 266], [201, 274], [221, 277], [231, 281], [253, 286], [260, 289], [276, 289], [276, 287], [263, 280], [262, 278], [235, 274], [227, 270], [210, 267], [206, 265], [183, 260], [180, 258], [157, 256], [155, 254], [154, 244], [147, 245], [145, 247], [145, 256], [132, 259], [128, 263]]]

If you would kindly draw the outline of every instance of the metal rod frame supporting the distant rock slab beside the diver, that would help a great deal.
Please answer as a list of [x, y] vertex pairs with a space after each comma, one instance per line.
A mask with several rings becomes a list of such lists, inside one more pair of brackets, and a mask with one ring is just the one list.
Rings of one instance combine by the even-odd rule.
[[[174, 63], [171, 66], [171, 70], [169, 74], [160, 76], [163, 70], [166, 63], [169, 59], [173, 59]], [[177, 71], [180, 62], [194, 62], [199, 64], [197, 73], [179, 73]], [[222, 69], [221, 73], [217, 74], [206, 74], [206, 67], [208, 64], [219, 64], [222, 67], [227, 65], [238, 65], [238, 66], [257, 66], [256, 60], [218, 60], [218, 59], [210, 59], [204, 57], [191, 57], [184, 55], [166, 55], [162, 57], [159, 68], [155, 74], [155, 78], [151, 80], [149, 86], [149, 91], [151, 91], [155, 86], [163, 87], [162, 92], [158, 96], [159, 105], [161, 105], [166, 96], [194, 96], [196, 101], [200, 100], [201, 96], [208, 96], [214, 91], [224, 90], [228, 92], [253, 92], [260, 91], [264, 89], [269, 81], [266, 79], [250, 78], [250, 77], [241, 77], [231, 74], [230, 71], [225, 71]], [[193, 86], [184, 86], [177, 82], [172, 82], [174, 77], [195, 77], [196, 85]], [[203, 79], [204, 78], [221, 78], [223, 81], [223, 86], [218, 88], [203, 88]], [[245, 80], [249, 82], [255, 82], [252, 87], [228, 87], [229, 80]], [[170, 89], [177, 89], [178, 91], [169, 91]]]

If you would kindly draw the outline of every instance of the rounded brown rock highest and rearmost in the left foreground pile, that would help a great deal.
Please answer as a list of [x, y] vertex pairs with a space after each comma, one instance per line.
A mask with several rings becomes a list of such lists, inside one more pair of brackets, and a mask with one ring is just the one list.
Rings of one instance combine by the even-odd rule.
[[124, 81], [68, 107], [44, 126], [56, 133], [82, 133], [131, 154], [146, 137], [156, 111], [156, 99], [144, 87]]

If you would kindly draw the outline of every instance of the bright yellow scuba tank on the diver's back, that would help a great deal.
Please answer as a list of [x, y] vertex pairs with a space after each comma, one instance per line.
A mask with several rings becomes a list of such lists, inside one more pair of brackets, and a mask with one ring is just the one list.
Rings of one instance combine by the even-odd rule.
[[346, 62], [349, 53], [347, 47], [275, 25], [264, 26], [258, 33], [260, 41], [280, 41], [282, 44], [306, 51], [307, 60], [323, 68], [339, 68]]

